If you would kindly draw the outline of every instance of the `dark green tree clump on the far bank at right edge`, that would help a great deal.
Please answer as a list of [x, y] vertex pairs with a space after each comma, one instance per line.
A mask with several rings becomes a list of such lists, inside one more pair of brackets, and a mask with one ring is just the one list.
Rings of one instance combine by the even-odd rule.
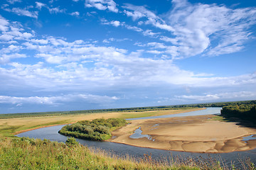
[[245, 120], [250, 122], [250, 126], [256, 126], [256, 105], [253, 102], [224, 106], [221, 115], [229, 120]]

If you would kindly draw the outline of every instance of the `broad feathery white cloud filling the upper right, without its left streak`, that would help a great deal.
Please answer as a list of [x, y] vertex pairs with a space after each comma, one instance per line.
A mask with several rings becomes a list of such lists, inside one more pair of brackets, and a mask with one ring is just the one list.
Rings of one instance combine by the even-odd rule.
[[[178, 45], [184, 56], [198, 55], [206, 50], [206, 55], [238, 52], [249, 38], [247, 29], [255, 24], [255, 8], [231, 9], [216, 4], [173, 2], [174, 9], [169, 13], [168, 23], [175, 28], [176, 38], [162, 40]], [[210, 42], [216, 39], [219, 43], [214, 47]]]

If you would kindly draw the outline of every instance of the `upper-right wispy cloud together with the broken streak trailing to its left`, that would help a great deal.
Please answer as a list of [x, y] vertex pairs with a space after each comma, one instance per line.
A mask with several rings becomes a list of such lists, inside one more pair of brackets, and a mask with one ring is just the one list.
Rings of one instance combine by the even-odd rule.
[[[250, 27], [256, 23], [256, 8], [232, 9], [217, 4], [190, 4], [186, 0], [172, 1], [172, 4], [171, 11], [162, 15], [165, 18], [145, 6], [125, 4], [122, 7], [125, 8], [123, 12], [139, 25], [148, 24], [167, 30], [165, 35], [149, 33], [154, 38], [171, 42], [169, 54], [177, 59], [238, 52], [252, 38]], [[146, 21], [139, 21], [142, 19]], [[149, 35], [146, 31], [143, 33]]]

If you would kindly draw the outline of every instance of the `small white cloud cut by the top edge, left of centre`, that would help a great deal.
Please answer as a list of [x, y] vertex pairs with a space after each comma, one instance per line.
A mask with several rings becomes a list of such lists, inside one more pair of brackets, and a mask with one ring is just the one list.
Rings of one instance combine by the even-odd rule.
[[85, 0], [85, 6], [87, 8], [95, 7], [99, 10], [108, 9], [114, 13], [118, 12], [117, 4], [113, 0]]

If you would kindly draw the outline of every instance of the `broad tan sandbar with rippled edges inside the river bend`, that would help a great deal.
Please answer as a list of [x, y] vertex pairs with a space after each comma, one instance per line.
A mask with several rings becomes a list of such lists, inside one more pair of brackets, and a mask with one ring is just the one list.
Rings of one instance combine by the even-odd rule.
[[[137, 147], [206, 153], [244, 151], [256, 147], [256, 140], [242, 141], [242, 137], [255, 135], [255, 128], [210, 120], [213, 116], [132, 120], [129, 125], [114, 130], [112, 135], [116, 138], [110, 141]], [[142, 135], [149, 137], [130, 138], [139, 127]]]

